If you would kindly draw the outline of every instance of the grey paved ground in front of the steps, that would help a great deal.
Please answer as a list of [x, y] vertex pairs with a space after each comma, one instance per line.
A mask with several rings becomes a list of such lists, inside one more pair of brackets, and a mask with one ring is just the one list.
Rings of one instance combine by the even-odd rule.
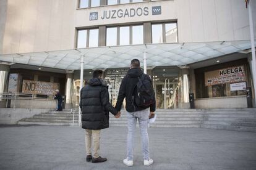
[[[138, 129], [137, 129], [138, 130]], [[65, 126], [0, 127], [0, 169], [256, 169], [256, 133], [195, 128], [150, 128], [155, 163], [143, 167], [139, 131], [133, 168], [126, 157], [124, 127], [102, 131], [106, 163], [85, 161], [84, 131]]]

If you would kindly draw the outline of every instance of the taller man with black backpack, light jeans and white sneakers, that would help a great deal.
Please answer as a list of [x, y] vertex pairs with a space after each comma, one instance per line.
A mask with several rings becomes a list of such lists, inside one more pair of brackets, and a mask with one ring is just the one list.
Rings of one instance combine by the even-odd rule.
[[[123, 163], [127, 166], [133, 165], [134, 133], [138, 119], [140, 136], [142, 137], [144, 166], [150, 166], [150, 164], [153, 164], [153, 160], [149, 155], [148, 119], [154, 114], [156, 108], [155, 92], [153, 91], [150, 77], [143, 74], [140, 69], [140, 61], [137, 59], [130, 62], [130, 70], [122, 79], [116, 102], [118, 114], [120, 114], [124, 98], [126, 98], [128, 134], [127, 158], [124, 159]], [[150, 114], [148, 114], [148, 108], [150, 108]]]

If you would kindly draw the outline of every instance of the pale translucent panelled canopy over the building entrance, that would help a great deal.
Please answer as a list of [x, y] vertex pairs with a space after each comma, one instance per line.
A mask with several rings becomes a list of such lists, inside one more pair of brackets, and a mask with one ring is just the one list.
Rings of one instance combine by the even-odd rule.
[[132, 59], [139, 59], [143, 65], [143, 52], [147, 52], [148, 67], [179, 66], [213, 59], [245, 49], [250, 49], [250, 41], [143, 44], [5, 54], [0, 55], [0, 60], [39, 67], [79, 70], [80, 56], [83, 55], [84, 69], [122, 68], [129, 67]]

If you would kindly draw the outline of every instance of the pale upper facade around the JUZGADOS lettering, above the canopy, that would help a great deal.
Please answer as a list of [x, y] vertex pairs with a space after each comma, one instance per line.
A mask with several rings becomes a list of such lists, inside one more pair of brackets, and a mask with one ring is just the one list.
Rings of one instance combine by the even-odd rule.
[[[75, 28], [158, 20], [177, 20], [179, 42], [249, 39], [248, 11], [244, 1], [240, 0], [145, 1], [87, 9], [77, 9], [77, 2], [73, 0], [7, 1], [6, 24], [4, 28], [0, 28], [0, 32], [4, 32], [2, 54], [74, 49]], [[152, 6], [161, 6], [162, 14], [151, 15]], [[149, 15], [125, 19], [89, 20], [90, 12], [98, 12], [101, 15], [104, 10], [136, 7], [148, 7]], [[252, 8], [253, 15], [256, 16], [256, 3], [253, 3]], [[254, 30], [256, 35], [256, 23]]]

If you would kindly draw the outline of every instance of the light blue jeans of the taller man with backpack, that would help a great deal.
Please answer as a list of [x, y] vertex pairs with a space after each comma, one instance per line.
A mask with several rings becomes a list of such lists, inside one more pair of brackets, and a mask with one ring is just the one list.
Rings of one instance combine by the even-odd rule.
[[127, 158], [132, 161], [134, 158], [134, 134], [137, 119], [139, 120], [140, 136], [142, 138], [142, 152], [144, 160], [149, 160], [148, 144], [148, 108], [145, 110], [127, 112], [128, 134], [127, 134]]

